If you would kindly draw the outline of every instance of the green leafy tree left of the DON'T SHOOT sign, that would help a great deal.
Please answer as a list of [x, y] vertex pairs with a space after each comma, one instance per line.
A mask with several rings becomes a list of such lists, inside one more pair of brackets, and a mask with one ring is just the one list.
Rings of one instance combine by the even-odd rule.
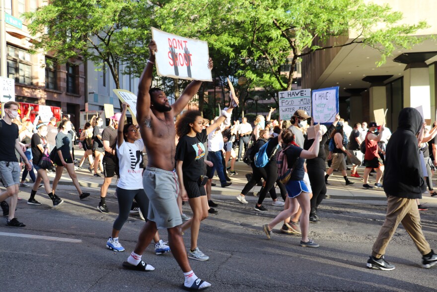
[[52, 0], [25, 17], [35, 51], [53, 52], [59, 64], [78, 58], [98, 70], [106, 65], [119, 89], [121, 73], [138, 77], [145, 67], [152, 13], [145, 0]]

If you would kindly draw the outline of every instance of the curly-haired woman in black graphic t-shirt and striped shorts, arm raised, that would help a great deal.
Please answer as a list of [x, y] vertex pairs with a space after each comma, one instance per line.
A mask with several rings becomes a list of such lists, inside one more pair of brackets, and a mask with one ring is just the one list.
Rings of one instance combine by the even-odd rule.
[[200, 183], [204, 175], [204, 143], [207, 141], [208, 134], [216, 130], [226, 117], [230, 117], [231, 112], [232, 107], [223, 110], [223, 115], [207, 128], [203, 127], [203, 117], [197, 110], [185, 112], [176, 122], [176, 134], [180, 137], [175, 157], [180, 195], [182, 199], [188, 199], [193, 210], [193, 217], [182, 224], [182, 231], [191, 227], [191, 248], [188, 251], [188, 258], [193, 260], [209, 260], [209, 257], [197, 246], [200, 222], [208, 217], [209, 209], [205, 187]]

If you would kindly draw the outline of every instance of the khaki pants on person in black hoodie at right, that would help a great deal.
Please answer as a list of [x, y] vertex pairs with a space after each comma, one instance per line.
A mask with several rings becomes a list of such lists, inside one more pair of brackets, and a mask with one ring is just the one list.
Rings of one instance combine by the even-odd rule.
[[401, 198], [389, 195], [387, 199], [387, 215], [379, 231], [378, 238], [372, 247], [372, 256], [380, 258], [393, 236], [399, 223], [413, 239], [417, 249], [422, 255], [431, 252], [430, 244], [426, 241], [420, 225], [419, 209], [415, 199]]

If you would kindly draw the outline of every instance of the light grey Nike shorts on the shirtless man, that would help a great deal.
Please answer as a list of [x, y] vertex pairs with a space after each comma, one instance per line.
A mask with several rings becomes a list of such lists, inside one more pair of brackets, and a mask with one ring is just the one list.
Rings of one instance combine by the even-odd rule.
[[143, 173], [143, 187], [149, 199], [149, 221], [155, 222], [158, 229], [182, 224], [177, 204], [179, 183], [176, 172], [146, 167]]

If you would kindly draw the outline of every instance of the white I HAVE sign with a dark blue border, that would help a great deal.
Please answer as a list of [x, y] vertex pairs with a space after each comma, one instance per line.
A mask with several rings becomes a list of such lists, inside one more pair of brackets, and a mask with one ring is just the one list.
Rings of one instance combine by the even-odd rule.
[[338, 113], [339, 87], [312, 91], [312, 117], [314, 123], [332, 123]]

